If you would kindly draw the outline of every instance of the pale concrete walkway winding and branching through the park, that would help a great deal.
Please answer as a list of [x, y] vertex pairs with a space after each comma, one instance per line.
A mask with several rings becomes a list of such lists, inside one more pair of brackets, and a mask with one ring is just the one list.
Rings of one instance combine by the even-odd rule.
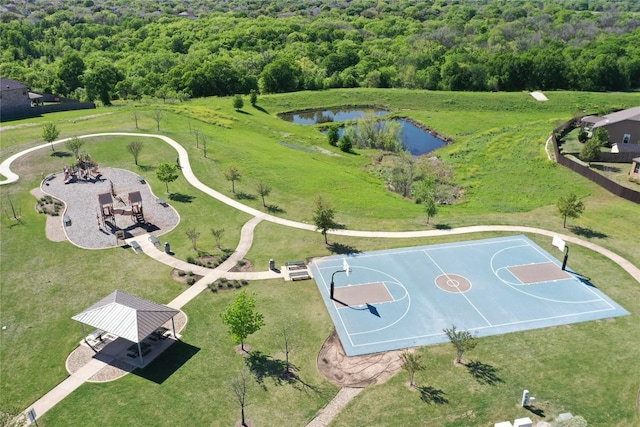
[[[215, 269], [208, 269], [205, 267], [196, 266], [193, 264], [188, 264], [184, 261], [180, 261], [170, 256], [169, 254], [164, 253], [163, 251], [158, 250], [151, 242], [149, 242], [148, 238], [136, 237], [136, 241], [142, 247], [142, 250], [152, 258], [162, 262], [164, 264], [170, 265], [174, 268], [180, 270], [191, 270], [198, 275], [202, 275], [202, 279], [198, 280], [192, 286], [189, 287], [186, 291], [180, 294], [177, 298], [167, 304], [173, 308], [181, 308], [186, 303], [195, 298], [200, 292], [207, 289], [207, 285], [209, 283], [214, 282], [220, 277], [229, 277], [229, 278], [250, 278], [252, 280], [258, 279], [267, 279], [267, 278], [276, 278], [282, 277], [280, 274], [275, 272], [257, 272], [257, 273], [229, 273], [229, 270], [233, 268], [236, 263], [244, 258], [246, 253], [251, 248], [251, 244], [253, 242], [253, 230], [256, 225], [263, 220], [270, 221], [276, 224], [284, 225], [287, 227], [298, 228], [302, 230], [309, 231], [317, 231], [315, 226], [311, 224], [305, 224], [297, 221], [291, 221], [283, 218], [278, 218], [273, 215], [266, 214], [257, 209], [246, 206], [237, 200], [234, 200], [230, 197], [225, 196], [222, 193], [219, 193], [212, 188], [203, 184], [193, 173], [191, 169], [191, 164], [189, 162], [189, 155], [187, 151], [178, 144], [173, 139], [166, 137], [164, 135], [154, 135], [154, 134], [139, 134], [139, 133], [128, 133], [128, 132], [113, 132], [113, 133], [101, 133], [101, 134], [93, 134], [93, 135], [83, 135], [79, 138], [93, 138], [98, 136], [136, 136], [136, 137], [147, 137], [147, 138], [158, 138], [165, 141], [167, 144], [171, 145], [177, 152], [180, 158], [180, 166], [182, 168], [182, 174], [187, 179], [187, 181], [199, 189], [200, 191], [208, 194], [215, 199], [226, 203], [229, 206], [236, 208], [242, 212], [245, 212], [251, 215], [253, 218], [249, 220], [243, 227], [241, 231], [240, 242], [235, 252], [222, 264], [220, 264]], [[71, 138], [61, 139], [53, 142], [54, 145], [63, 144]], [[5, 161], [0, 163], [0, 174], [4, 175], [6, 179], [0, 181], [0, 185], [10, 184], [12, 182], [16, 182], [18, 180], [18, 175], [11, 171], [11, 163], [21, 156], [31, 153], [33, 151], [49, 148], [50, 144], [42, 144], [37, 147], [33, 147], [27, 150], [24, 150], [20, 153], [16, 153]], [[580, 238], [574, 236], [568, 236], [548, 230], [543, 230], [539, 228], [532, 227], [521, 227], [521, 226], [505, 226], [505, 225], [488, 225], [488, 226], [473, 226], [473, 227], [461, 227], [461, 228], [453, 228], [449, 230], [420, 230], [420, 231], [358, 231], [358, 230], [332, 230], [329, 233], [338, 236], [352, 236], [352, 237], [378, 237], [378, 238], [411, 238], [411, 237], [432, 237], [432, 236], [446, 236], [446, 235], [458, 235], [458, 234], [467, 234], [467, 233], [480, 233], [485, 231], [508, 231], [508, 232], [520, 232], [520, 233], [534, 233], [541, 234], [545, 236], [559, 236], [565, 241], [584, 246], [589, 248], [595, 252], [598, 252], [613, 262], [622, 267], [625, 271], [627, 271], [631, 277], [636, 279], [640, 283], [640, 269], [629, 261], [624, 259], [623, 257], [615, 254], [614, 252], [605, 249], [595, 243], [591, 243]], [[67, 395], [73, 392], [76, 388], [78, 388], [84, 381], [90, 378], [97, 371], [102, 369], [106, 364], [99, 361], [92, 360], [85, 367], [72, 374], [62, 383], [60, 383], [57, 387], [52, 389], [49, 393], [44, 395], [41, 399], [36, 401], [30, 408], [34, 408], [36, 411], [36, 417], [40, 417], [47, 410], [52, 408], [55, 404], [64, 399]], [[333, 417], [342, 409], [351, 399], [358, 395], [361, 389], [354, 388], [342, 388], [338, 394], [334, 397], [334, 399], [327, 404], [322, 411], [318, 413], [316, 418], [314, 418], [311, 423], [308, 424], [308, 427], [320, 427], [325, 426], [331, 422]], [[26, 412], [26, 411], [25, 411]]]

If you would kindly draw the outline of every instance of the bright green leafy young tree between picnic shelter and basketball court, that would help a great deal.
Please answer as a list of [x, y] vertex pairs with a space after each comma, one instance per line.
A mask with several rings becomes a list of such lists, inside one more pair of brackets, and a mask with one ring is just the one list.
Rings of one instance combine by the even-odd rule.
[[229, 328], [233, 341], [240, 344], [242, 351], [245, 351], [244, 341], [247, 337], [264, 326], [263, 316], [255, 308], [255, 294], [250, 295], [243, 290], [233, 303], [220, 313], [222, 323]]

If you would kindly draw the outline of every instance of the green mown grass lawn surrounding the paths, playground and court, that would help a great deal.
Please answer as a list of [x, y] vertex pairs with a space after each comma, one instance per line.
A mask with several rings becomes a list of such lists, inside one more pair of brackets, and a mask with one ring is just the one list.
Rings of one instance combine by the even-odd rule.
[[[0, 160], [42, 143], [45, 121], [56, 123], [60, 138], [100, 132], [162, 133], [183, 144], [196, 176], [217, 191], [238, 197], [224, 178], [224, 171], [236, 166], [242, 172], [236, 182], [242, 201], [263, 209], [255, 186], [259, 181], [269, 184], [272, 192], [266, 202], [277, 206], [275, 214], [285, 218], [310, 223], [313, 200], [323, 194], [336, 208], [338, 222], [349, 229], [527, 225], [580, 236], [640, 265], [635, 238], [640, 234], [640, 207], [549, 163], [544, 153], [551, 130], [576, 112], [629, 107], [637, 104], [637, 95], [551, 92], [547, 96], [549, 102], [538, 103], [526, 93], [332, 90], [261, 96], [260, 109], [246, 106], [244, 113], [232, 108], [230, 98], [120, 104], [2, 123], [11, 128], [0, 132]], [[330, 147], [316, 127], [276, 117], [285, 111], [346, 104], [384, 106], [453, 138], [453, 144], [436, 154], [453, 166], [456, 182], [465, 189], [462, 203], [441, 206], [427, 225], [420, 205], [388, 192], [383, 180], [368, 172], [373, 152], [342, 153]], [[163, 110], [159, 132], [151, 116], [156, 108]], [[140, 118], [138, 129], [134, 111]], [[200, 135], [197, 146], [196, 130]], [[206, 158], [201, 135], [206, 138]], [[155, 194], [164, 194], [165, 185], [155, 177], [155, 168], [161, 162], [173, 163], [176, 153], [159, 140], [144, 138], [140, 166], [136, 166], [126, 151], [126, 145], [136, 138], [92, 138], [82, 151], [102, 167], [143, 174]], [[0, 342], [0, 408], [26, 408], [65, 378], [64, 360], [81, 338], [80, 325], [71, 320], [74, 314], [114, 289], [160, 303], [185, 289], [171, 280], [169, 267], [130, 250], [86, 251], [46, 239], [45, 218], [35, 212], [29, 191], [39, 185], [43, 174], [59, 171], [68, 162], [68, 157], [60, 157], [64, 147], [55, 150], [46, 148], [20, 159], [13, 166], [20, 180], [0, 187], [0, 308], [2, 326], [6, 326]], [[169, 188], [182, 196], [172, 202], [181, 223], [162, 237], [171, 242], [176, 257], [187, 259], [195, 254], [185, 234], [188, 229], [200, 232], [200, 250], [216, 252], [212, 228], [223, 228], [222, 246], [235, 248], [240, 228], [249, 219], [246, 214], [193, 189], [183, 177]], [[583, 198], [586, 211], [569, 221], [571, 228], [563, 229], [555, 202], [569, 191]], [[9, 200], [22, 216], [21, 225], [10, 218]], [[455, 240], [496, 235], [456, 236]], [[546, 238], [530, 237], [548, 245]], [[334, 247], [353, 250], [450, 240], [330, 236]], [[264, 270], [271, 258], [280, 265], [329, 253], [317, 233], [263, 222], [256, 228], [247, 258], [256, 270]], [[613, 263], [581, 248], [572, 247], [570, 265], [592, 277], [596, 286], [632, 315], [483, 338], [468, 357], [495, 368], [502, 381], [491, 386], [480, 384], [466, 369], [454, 367], [450, 346], [420, 349], [427, 370], [418, 383], [441, 390], [447, 403], [421, 401], [417, 393], [404, 387], [407, 377], [401, 373], [366, 390], [334, 424], [415, 425], [419, 419], [421, 425], [490, 425], [531, 415], [518, 408], [522, 389], [529, 388], [546, 415], [537, 419], [570, 411], [585, 416], [594, 426], [640, 425], [635, 406], [640, 375], [634, 360], [640, 350], [640, 321], [634, 315], [640, 309], [638, 283]], [[315, 356], [331, 329], [328, 315], [310, 282], [251, 283], [248, 289], [258, 293], [258, 308], [266, 318], [263, 330], [249, 339], [253, 348], [281, 359], [277, 331], [282, 322], [291, 320], [299, 331], [292, 359], [307, 384], [279, 385], [273, 378], [256, 384], [248, 417], [256, 425], [304, 425], [336, 390], [315, 368]], [[153, 425], [233, 423], [239, 411], [229, 400], [228, 383], [243, 361], [233, 352], [218, 313], [234, 292], [206, 293], [185, 307], [189, 324], [183, 339], [188, 346], [172, 350], [140, 375], [82, 386], [39, 425], [112, 425], [138, 417]], [[171, 371], [168, 366], [183, 360], [185, 354], [190, 358]], [[171, 374], [161, 383], [148, 379], [161, 375], [154, 372], [167, 370]], [[286, 410], [274, 411], [282, 406]], [[101, 410], [95, 411], [96, 407]]]

